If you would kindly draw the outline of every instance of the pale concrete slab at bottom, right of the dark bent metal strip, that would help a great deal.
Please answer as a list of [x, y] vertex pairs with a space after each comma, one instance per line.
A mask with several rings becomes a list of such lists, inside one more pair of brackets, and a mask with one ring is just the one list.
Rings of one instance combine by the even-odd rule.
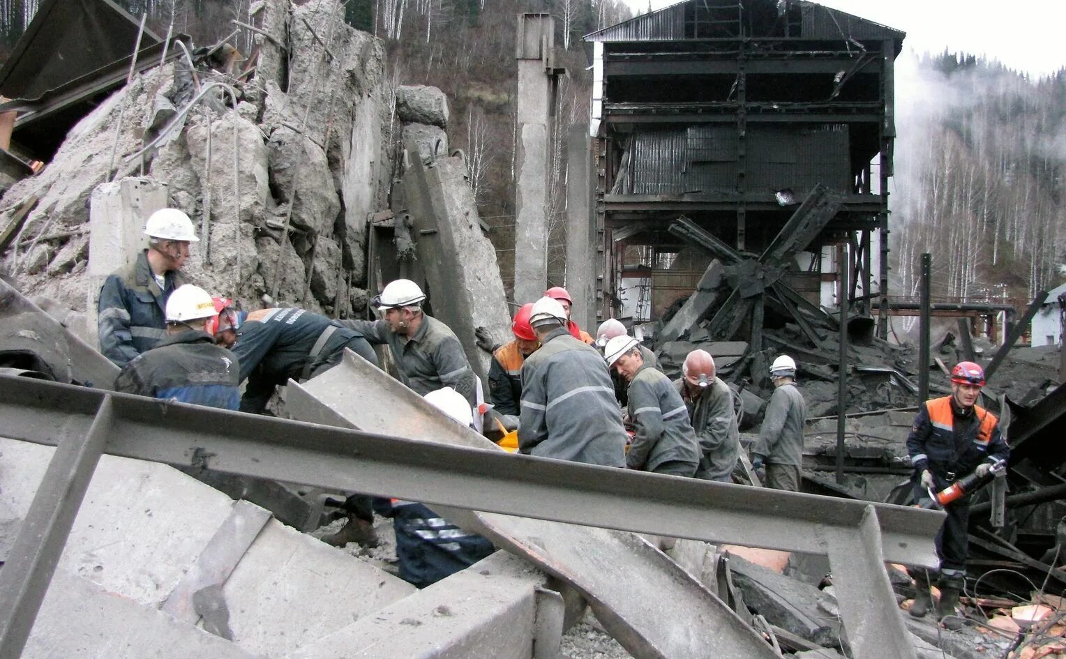
[[[417, 592], [343, 550], [266, 523], [223, 589], [233, 640], [280, 657]], [[298, 612], [298, 623], [294, 614]]]

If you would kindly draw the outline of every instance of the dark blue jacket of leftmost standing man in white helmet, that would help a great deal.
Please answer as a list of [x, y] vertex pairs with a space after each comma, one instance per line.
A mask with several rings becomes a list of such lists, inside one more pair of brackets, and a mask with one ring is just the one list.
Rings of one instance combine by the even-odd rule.
[[148, 251], [108, 276], [100, 287], [97, 332], [100, 352], [118, 367], [166, 338], [166, 300], [185, 283], [181, 273], [167, 271], [159, 288], [148, 266]]

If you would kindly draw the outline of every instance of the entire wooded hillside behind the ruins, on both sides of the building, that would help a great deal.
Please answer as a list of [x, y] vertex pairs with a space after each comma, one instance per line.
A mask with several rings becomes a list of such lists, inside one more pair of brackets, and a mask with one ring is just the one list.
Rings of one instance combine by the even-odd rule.
[[[306, 0], [313, 3], [319, 0]], [[0, 58], [39, 0], [0, 0]], [[197, 45], [229, 36], [243, 52], [252, 0], [117, 0], [165, 34]], [[349, 0], [345, 19], [385, 39], [394, 84], [432, 84], [451, 99], [452, 148], [467, 154], [483, 219], [513, 224], [515, 27], [519, 12], [556, 20], [558, 134], [587, 119], [582, 34], [629, 17], [621, 0]], [[237, 33], [233, 34], [233, 31]], [[901, 55], [895, 178], [891, 187], [893, 292], [917, 290], [922, 252], [934, 254], [935, 292], [1027, 298], [1060, 283], [1066, 262], [1066, 70], [1033, 80], [972, 55]], [[550, 210], [562, 223], [564, 140], [555, 141]], [[561, 232], [553, 234], [561, 243]], [[498, 247], [505, 250], [506, 245]], [[549, 276], [562, 283], [559, 250]], [[510, 273], [504, 273], [508, 277]]]

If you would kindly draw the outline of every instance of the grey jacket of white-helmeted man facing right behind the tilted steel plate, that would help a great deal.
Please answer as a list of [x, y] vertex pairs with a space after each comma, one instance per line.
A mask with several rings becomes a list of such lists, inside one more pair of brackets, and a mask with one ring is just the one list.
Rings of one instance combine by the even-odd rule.
[[341, 326], [360, 333], [372, 344], [387, 344], [400, 371], [400, 380], [419, 396], [452, 387], [478, 404], [474, 375], [455, 333], [432, 316], [422, 315], [414, 336], [397, 334], [387, 320], [339, 320]]

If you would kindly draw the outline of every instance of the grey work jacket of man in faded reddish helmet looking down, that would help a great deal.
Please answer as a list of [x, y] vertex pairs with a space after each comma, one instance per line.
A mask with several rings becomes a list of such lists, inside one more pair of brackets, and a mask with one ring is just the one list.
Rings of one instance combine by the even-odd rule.
[[674, 381], [674, 388], [689, 408], [689, 420], [699, 443], [699, 468], [696, 478], [728, 483], [740, 456], [740, 430], [729, 385], [715, 377], [706, 389], [690, 396], [684, 377]]

